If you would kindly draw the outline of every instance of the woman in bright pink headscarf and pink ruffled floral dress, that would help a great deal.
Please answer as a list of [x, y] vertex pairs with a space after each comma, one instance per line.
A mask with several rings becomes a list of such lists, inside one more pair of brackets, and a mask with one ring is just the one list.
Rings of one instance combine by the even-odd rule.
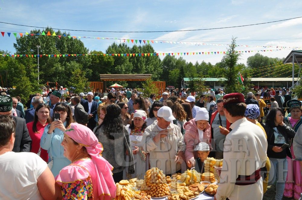
[[63, 199], [115, 198], [113, 167], [102, 157], [103, 146], [89, 128], [71, 123], [61, 145], [72, 162], [56, 177]]

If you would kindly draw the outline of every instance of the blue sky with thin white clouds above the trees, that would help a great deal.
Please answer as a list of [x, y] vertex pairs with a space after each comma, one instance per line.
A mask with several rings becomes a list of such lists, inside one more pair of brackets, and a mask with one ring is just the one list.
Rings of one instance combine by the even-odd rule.
[[[0, 1], [0, 21], [38, 27], [72, 30], [162, 31], [238, 26], [302, 16], [300, 0], [287, 1]], [[232, 36], [239, 45], [301, 46], [302, 18], [220, 30], [173, 33], [93, 33], [70, 31], [75, 36], [117, 37], [191, 41], [195, 43], [229, 44]], [[0, 23], [0, 31], [29, 32], [31, 28]], [[114, 40], [81, 39], [89, 50], [105, 51]], [[0, 49], [15, 52], [15, 38], [0, 35]], [[119, 41], [116, 41], [119, 42]], [[132, 44], [129, 44], [132, 46]], [[152, 44], [156, 52], [226, 51], [225, 46], [191, 44]], [[238, 47], [238, 51], [276, 48]], [[283, 58], [291, 50], [263, 52], [269, 57]], [[70, 52], [75, 53], [77, 52]], [[137, 52], [140, 53], [140, 52]], [[147, 53], [147, 52], [144, 52]], [[254, 53], [242, 55], [240, 62]], [[161, 59], [163, 57], [161, 56]], [[191, 62], [219, 62], [222, 55], [188, 55]]]

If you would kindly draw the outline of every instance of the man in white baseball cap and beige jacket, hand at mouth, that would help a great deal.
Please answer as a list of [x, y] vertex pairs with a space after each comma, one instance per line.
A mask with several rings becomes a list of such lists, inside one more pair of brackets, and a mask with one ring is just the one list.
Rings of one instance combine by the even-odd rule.
[[181, 172], [185, 143], [171, 108], [163, 106], [157, 111], [157, 122], [145, 129], [142, 145], [149, 153], [151, 167], [158, 167], [166, 175]]

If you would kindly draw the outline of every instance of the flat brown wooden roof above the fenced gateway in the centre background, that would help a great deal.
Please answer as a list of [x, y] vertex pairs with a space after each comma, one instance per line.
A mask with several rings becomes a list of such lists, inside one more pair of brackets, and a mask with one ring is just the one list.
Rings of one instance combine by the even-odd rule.
[[144, 81], [151, 78], [152, 74], [100, 74], [102, 81]]

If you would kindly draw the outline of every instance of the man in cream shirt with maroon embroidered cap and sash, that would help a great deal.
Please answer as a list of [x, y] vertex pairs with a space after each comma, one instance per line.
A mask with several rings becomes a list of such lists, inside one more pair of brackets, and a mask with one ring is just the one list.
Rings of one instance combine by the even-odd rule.
[[245, 117], [246, 104], [240, 93], [223, 96], [226, 119], [232, 131], [223, 147], [220, 184], [214, 200], [261, 200], [263, 197], [260, 168], [267, 159], [267, 140], [263, 130]]

